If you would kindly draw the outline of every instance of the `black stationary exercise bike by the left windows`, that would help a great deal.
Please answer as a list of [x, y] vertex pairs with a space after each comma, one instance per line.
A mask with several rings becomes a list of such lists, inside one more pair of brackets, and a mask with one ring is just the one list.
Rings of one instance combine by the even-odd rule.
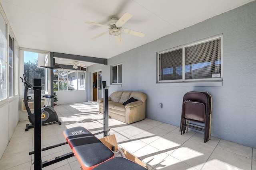
[[[31, 124], [26, 124], [25, 131], [28, 131], [28, 129], [34, 128], [34, 113], [31, 112], [28, 101], [32, 99], [31, 96], [28, 96], [28, 90], [32, 89], [33, 86], [30, 84], [26, 76], [23, 74], [23, 78], [20, 77], [22, 82], [25, 84], [24, 86], [24, 104], [26, 107], [26, 110], [28, 112], [28, 120]], [[61, 125], [61, 121], [59, 121], [58, 115], [56, 111], [49, 105], [50, 99], [54, 98], [54, 95], [44, 95], [44, 98], [48, 98], [47, 104], [41, 109], [41, 123], [42, 126], [44, 125], [50, 125], [54, 123], [59, 123]]]

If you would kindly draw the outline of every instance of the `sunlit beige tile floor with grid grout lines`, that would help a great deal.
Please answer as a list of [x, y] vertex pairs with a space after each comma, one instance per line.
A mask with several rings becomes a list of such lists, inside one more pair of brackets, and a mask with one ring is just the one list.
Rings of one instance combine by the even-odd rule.
[[[61, 125], [42, 127], [42, 148], [64, 142], [63, 131], [82, 126], [96, 133], [103, 130], [103, 115], [95, 103], [55, 106]], [[1, 160], [0, 170], [33, 170], [34, 129], [24, 131], [28, 121], [20, 121]], [[127, 125], [109, 119], [110, 134], [118, 145], [140, 158], [150, 170], [256, 170], [256, 149], [215, 137], [204, 143], [203, 135], [188, 131], [180, 135], [179, 127], [144, 119]], [[102, 138], [103, 134], [97, 135]], [[42, 161], [71, 152], [68, 145], [42, 152]], [[79, 170], [76, 157], [47, 166], [46, 170]]]

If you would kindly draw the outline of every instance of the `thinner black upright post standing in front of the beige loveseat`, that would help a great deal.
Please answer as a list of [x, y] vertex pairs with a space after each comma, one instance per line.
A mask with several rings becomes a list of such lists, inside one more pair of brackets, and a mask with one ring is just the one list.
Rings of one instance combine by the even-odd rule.
[[104, 88], [103, 96], [103, 117], [104, 117], [104, 137], [108, 136], [108, 89]]

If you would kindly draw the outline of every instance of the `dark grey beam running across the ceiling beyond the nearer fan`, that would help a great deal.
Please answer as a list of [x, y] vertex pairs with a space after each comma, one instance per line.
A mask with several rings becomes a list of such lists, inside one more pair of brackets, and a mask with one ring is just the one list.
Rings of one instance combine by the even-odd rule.
[[98, 63], [98, 64], [108, 64], [108, 59], [96, 58], [96, 57], [87, 57], [82, 55], [72, 55], [72, 54], [64, 54], [64, 53], [55, 53], [51, 52], [51, 57], [57, 57], [62, 59], [71, 59], [75, 61], [86, 61], [90, 63]]

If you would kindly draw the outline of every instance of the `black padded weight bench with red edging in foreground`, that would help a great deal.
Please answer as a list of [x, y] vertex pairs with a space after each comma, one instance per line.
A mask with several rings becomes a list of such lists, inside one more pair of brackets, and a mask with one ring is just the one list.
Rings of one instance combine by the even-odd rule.
[[63, 134], [82, 170], [147, 170], [126, 158], [114, 158], [114, 153], [84, 127], [66, 129]]

